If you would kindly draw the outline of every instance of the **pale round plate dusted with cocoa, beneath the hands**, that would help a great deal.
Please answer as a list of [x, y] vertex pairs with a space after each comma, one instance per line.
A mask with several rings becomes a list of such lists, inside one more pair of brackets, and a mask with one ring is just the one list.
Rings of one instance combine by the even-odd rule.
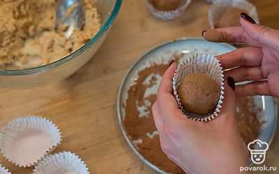
[[[126, 141], [130, 145], [130, 148], [133, 149], [133, 151], [137, 154], [138, 157], [140, 157], [140, 159], [142, 159], [142, 161], [151, 166], [151, 168], [160, 173], [165, 173], [157, 166], [144, 159], [144, 157], [137, 150], [136, 145], [133, 143], [133, 141], [130, 140], [123, 125], [123, 120], [125, 119], [125, 108], [123, 107], [123, 104], [126, 104], [126, 100], [128, 98], [128, 89], [130, 88], [130, 86], [135, 84], [138, 72], [149, 67], [150, 65], [152, 65], [152, 63], [167, 64], [170, 60], [172, 60], [174, 54], [184, 54], [184, 56], [188, 57], [197, 53], [207, 53], [217, 56], [218, 54], [232, 52], [234, 49], [236, 49], [236, 47], [232, 45], [225, 43], [208, 42], [203, 38], [181, 38], [172, 42], [166, 42], [162, 45], [159, 45], [158, 47], [151, 49], [149, 52], [146, 52], [146, 54], [137, 59], [137, 61], [130, 67], [125, 77], [123, 78], [118, 93], [117, 113], [119, 117], [119, 124]], [[156, 85], [148, 88], [145, 91], [144, 96], [156, 93], [159, 83], [160, 80], [157, 81]], [[273, 97], [267, 96], [255, 96], [255, 101], [255, 104], [259, 108], [262, 108], [262, 120], [266, 120], [266, 123], [262, 125], [262, 132], [259, 135], [259, 139], [270, 144], [277, 125], [278, 114], [276, 102], [275, 100], [273, 100]], [[142, 110], [140, 110], [140, 112], [142, 112]], [[257, 149], [259, 147], [256, 146], [255, 148]]]

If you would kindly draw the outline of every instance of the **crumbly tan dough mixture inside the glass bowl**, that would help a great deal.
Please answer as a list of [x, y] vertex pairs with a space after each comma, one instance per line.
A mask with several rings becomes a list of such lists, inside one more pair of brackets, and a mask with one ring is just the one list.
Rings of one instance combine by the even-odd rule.
[[[56, 31], [58, 0], [0, 1], [0, 65], [20, 62], [31, 67], [46, 65], [67, 56], [100, 30], [95, 1], [82, 0], [85, 24], [68, 40]], [[33, 61], [33, 63], [31, 63]]]

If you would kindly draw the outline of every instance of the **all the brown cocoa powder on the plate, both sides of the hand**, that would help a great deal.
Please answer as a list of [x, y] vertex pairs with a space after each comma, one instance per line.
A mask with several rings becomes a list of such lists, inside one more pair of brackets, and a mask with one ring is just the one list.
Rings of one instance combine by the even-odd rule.
[[[173, 54], [172, 56], [177, 62], [183, 54]], [[153, 136], [153, 139], [151, 139], [146, 135], [147, 133], [152, 134], [156, 131], [151, 113], [151, 104], [155, 102], [156, 95], [144, 97], [144, 93], [147, 88], [156, 84], [157, 77], [153, 75], [150, 84], [143, 83], [146, 77], [149, 77], [152, 73], [163, 76], [165, 70], [167, 70], [167, 65], [152, 65], [139, 72], [136, 84], [130, 86], [128, 90], [128, 99], [126, 100], [126, 106], [124, 106], [126, 111], [124, 126], [132, 141], [142, 139], [142, 143], [138, 143], [137, 147], [139, 148], [140, 154], [145, 159], [167, 173], [184, 173], [183, 170], [174, 164], [161, 150], [159, 136]], [[140, 112], [137, 107], [143, 106], [145, 101], [149, 101], [151, 104], [147, 106], [146, 111], [144, 111], [146, 112], [146, 116], [139, 117]], [[246, 143], [249, 143], [257, 139], [260, 127], [263, 124], [263, 122], [259, 122], [257, 118], [257, 113], [260, 109], [255, 107], [252, 98], [239, 98], [237, 99], [237, 103], [240, 110], [237, 113], [237, 121], [241, 136]]]

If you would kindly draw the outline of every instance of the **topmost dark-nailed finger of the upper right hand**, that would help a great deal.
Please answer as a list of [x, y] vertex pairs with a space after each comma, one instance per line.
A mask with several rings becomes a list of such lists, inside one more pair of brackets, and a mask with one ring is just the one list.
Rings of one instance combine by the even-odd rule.
[[252, 40], [262, 45], [267, 45], [272, 49], [279, 48], [279, 30], [271, 29], [268, 26], [254, 24], [253, 19], [246, 13], [241, 13], [241, 26]]

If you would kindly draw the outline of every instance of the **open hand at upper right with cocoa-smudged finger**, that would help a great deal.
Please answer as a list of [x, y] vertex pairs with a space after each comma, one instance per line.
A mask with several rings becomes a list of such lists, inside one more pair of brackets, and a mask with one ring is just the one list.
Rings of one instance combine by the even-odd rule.
[[234, 42], [244, 42], [253, 46], [217, 56], [224, 69], [235, 68], [225, 72], [225, 78], [232, 77], [235, 82], [252, 81], [236, 86], [236, 96], [279, 97], [279, 30], [255, 24], [245, 13], [241, 13], [240, 22], [241, 26], [204, 31], [203, 36], [206, 40], [210, 40], [206, 34], [212, 31], [225, 32], [234, 37]]

